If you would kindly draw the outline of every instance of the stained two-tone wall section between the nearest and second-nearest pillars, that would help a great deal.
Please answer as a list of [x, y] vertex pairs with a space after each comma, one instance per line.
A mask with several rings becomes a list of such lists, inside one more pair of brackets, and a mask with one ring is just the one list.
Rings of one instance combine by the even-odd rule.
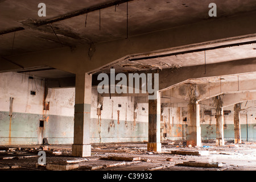
[[[104, 97], [101, 115], [97, 115], [97, 98], [97, 88], [93, 88], [90, 123], [92, 143], [147, 140], [148, 104], [137, 104], [138, 107], [134, 108], [134, 97]], [[137, 111], [135, 118], [134, 111]]]

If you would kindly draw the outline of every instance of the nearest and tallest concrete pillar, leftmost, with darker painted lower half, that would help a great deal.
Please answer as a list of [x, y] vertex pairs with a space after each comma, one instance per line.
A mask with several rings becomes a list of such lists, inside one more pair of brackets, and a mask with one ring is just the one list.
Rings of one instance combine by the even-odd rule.
[[72, 155], [91, 155], [90, 146], [90, 105], [92, 96], [92, 75], [76, 75], [75, 123]]

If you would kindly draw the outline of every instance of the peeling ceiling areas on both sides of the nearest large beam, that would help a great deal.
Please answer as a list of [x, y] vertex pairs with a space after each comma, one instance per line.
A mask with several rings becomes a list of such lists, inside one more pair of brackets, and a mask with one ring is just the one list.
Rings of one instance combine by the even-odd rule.
[[[42, 1], [2, 0], [0, 1], [0, 34], [15, 27], [23, 27], [24, 30], [0, 35], [0, 56], [19, 55], [46, 49], [66, 46], [75, 47], [82, 44], [96, 44], [115, 39], [125, 39], [127, 34], [126, 3], [107, 7], [101, 9], [101, 11], [90, 12], [87, 14], [87, 18], [86, 14], [81, 14], [52, 24], [35, 25], [35, 23], [40, 23], [44, 20], [60, 18], [80, 10], [89, 9], [90, 7], [104, 6], [113, 1], [115, 0], [45, 0], [43, 2], [46, 4], [47, 16], [39, 17], [38, 4]], [[256, 1], [254, 0], [134, 0], [129, 1], [129, 36], [147, 34], [148, 32], [165, 30], [196, 22], [212, 21], [212, 18], [208, 15], [208, 5], [212, 2], [217, 5], [217, 18], [237, 16], [256, 11]], [[256, 40], [256, 38], [251, 37], [246, 40]], [[117, 72], [132, 72], [188, 67], [205, 64], [205, 61], [207, 64], [212, 64], [249, 59], [256, 57], [255, 49], [255, 44], [248, 44], [155, 59], [122, 60], [121, 62], [106, 66], [98, 70], [98, 72], [109, 72], [111, 67], [117, 69]], [[46, 77], [47, 74], [50, 74], [49, 72], [56, 71], [41, 71], [40, 74], [42, 73], [41, 75]], [[60, 75], [62, 74], [60, 73]], [[55, 76], [58, 77], [57, 75]]]

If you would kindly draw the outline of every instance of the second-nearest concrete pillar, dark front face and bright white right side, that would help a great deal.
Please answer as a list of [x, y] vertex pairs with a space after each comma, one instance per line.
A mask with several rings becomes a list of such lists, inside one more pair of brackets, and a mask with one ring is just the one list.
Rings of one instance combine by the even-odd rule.
[[161, 152], [160, 93], [156, 93], [156, 100], [148, 100], [148, 144], [147, 151]]

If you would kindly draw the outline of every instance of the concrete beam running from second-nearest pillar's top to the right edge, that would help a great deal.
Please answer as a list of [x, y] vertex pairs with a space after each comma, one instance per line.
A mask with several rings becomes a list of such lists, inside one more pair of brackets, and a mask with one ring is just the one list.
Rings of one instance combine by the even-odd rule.
[[[238, 75], [242, 73], [255, 72], [256, 59], [243, 59], [234, 60], [223, 63], [207, 64], [208, 71], [204, 74], [204, 65], [197, 65], [192, 67], [183, 67], [176, 71], [171, 69], [163, 69], [159, 72], [159, 90], [162, 92], [168, 90], [171, 87], [185, 83], [188, 80], [195, 78], [216, 77], [224, 75]], [[243, 69], [241, 69], [243, 68]], [[207, 85], [205, 85], [207, 86]], [[245, 85], [247, 86], [247, 85]], [[254, 86], [250, 86], [252, 89]], [[235, 87], [237, 88], [237, 86]], [[240, 90], [243, 86], [240, 86]], [[229, 89], [228, 89], [229, 90]], [[226, 92], [226, 90], [224, 91]], [[199, 98], [201, 99], [201, 98]]]

